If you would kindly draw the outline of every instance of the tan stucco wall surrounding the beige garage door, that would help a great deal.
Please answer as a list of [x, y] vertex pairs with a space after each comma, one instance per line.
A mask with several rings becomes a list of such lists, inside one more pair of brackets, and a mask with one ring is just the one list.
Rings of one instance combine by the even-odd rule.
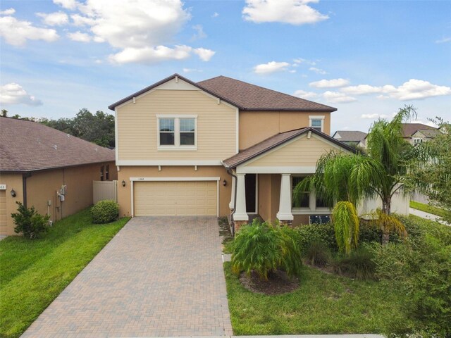
[[[228, 175], [223, 166], [125, 166], [121, 165], [118, 172], [118, 204], [120, 215], [131, 215], [131, 184], [130, 177], [220, 177], [219, 180], [219, 216], [223, 217], [230, 213], [229, 202], [231, 196], [232, 177]], [[125, 187], [121, 182], [125, 181]], [[227, 181], [226, 187], [223, 180]]]

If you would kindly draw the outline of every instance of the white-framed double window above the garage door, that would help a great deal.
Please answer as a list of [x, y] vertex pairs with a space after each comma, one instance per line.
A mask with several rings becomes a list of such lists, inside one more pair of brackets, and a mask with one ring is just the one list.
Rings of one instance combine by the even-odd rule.
[[197, 115], [157, 115], [159, 150], [196, 150]]

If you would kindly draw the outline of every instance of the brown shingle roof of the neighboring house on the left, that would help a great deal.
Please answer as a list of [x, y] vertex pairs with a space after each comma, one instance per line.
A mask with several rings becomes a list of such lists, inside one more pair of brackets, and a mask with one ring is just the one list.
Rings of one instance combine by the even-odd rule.
[[114, 160], [111, 149], [40, 123], [0, 117], [0, 171], [26, 172]]

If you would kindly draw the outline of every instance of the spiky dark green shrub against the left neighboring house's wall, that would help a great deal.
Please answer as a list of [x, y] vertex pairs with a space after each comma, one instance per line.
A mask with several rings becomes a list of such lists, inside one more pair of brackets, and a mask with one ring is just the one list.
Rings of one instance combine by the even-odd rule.
[[22, 232], [23, 237], [35, 239], [41, 232], [47, 232], [47, 224], [49, 223], [49, 215], [41, 215], [36, 212], [35, 207], [25, 208], [20, 202], [18, 204], [18, 212], [12, 213], [14, 232], [17, 234]]

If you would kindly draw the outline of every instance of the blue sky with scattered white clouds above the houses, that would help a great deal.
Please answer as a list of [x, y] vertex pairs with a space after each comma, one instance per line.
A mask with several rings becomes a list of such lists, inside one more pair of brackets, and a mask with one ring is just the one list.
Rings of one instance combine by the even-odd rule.
[[[367, 130], [404, 104], [451, 120], [451, 1], [54, 0], [0, 8], [0, 106], [73, 117], [173, 73], [234, 77]], [[111, 111], [109, 111], [112, 113]]]

